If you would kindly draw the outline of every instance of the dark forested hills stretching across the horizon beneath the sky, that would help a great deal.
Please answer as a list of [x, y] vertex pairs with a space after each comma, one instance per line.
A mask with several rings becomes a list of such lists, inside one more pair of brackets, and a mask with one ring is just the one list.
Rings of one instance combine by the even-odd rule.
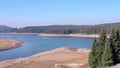
[[[7, 28], [7, 29], [6, 29]], [[24, 28], [11, 28], [1, 27], [1, 33], [18, 32], [18, 33], [52, 33], [52, 34], [71, 34], [71, 33], [84, 33], [84, 34], [96, 34], [101, 29], [106, 29], [107, 33], [112, 28], [120, 28], [120, 22], [108, 23], [99, 25], [51, 25], [51, 26], [28, 26]]]

